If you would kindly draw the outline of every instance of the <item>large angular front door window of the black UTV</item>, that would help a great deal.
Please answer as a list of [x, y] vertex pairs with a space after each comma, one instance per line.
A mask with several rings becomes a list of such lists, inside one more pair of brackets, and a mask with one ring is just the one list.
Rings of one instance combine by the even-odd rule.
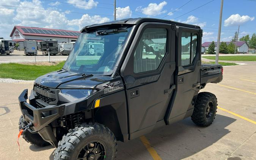
[[146, 28], [133, 53], [133, 72], [141, 73], [157, 69], [166, 54], [167, 30]]

